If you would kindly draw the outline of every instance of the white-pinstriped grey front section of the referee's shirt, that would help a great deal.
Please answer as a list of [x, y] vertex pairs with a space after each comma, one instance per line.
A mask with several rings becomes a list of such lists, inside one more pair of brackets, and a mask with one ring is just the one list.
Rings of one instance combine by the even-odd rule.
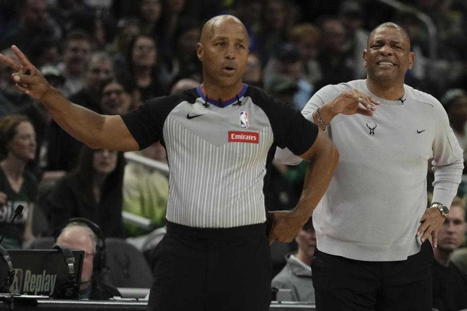
[[[170, 164], [167, 220], [193, 227], [264, 223], [264, 176], [273, 142], [270, 127], [259, 143], [213, 144], [167, 118], [164, 140]], [[165, 137], [166, 136], [166, 137]]]

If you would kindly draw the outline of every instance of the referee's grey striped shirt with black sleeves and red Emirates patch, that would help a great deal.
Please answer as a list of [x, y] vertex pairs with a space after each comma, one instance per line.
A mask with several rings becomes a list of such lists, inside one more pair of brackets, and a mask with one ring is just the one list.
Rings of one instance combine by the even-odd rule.
[[300, 155], [318, 135], [300, 112], [245, 84], [228, 101], [210, 99], [198, 86], [122, 118], [141, 149], [158, 140], [165, 147], [167, 220], [203, 228], [264, 223], [276, 146]]

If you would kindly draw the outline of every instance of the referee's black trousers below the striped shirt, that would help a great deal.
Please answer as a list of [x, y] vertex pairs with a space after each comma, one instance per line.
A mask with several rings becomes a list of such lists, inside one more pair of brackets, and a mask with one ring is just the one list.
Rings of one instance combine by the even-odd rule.
[[266, 224], [224, 229], [168, 222], [154, 255], [147, 310], [269, 310], [271, 254]]

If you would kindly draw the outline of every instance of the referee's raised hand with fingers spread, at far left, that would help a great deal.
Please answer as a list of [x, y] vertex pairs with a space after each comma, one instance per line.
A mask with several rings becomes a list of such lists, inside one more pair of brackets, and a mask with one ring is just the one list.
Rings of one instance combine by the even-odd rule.
[[16, 82], [18, 90], [40, 100], [52, 86], [15, 45], [11, 49], [18, 57], [19, 63], [2, 54], [0, 54], [0, 61], [17, 71], [11, 77]]

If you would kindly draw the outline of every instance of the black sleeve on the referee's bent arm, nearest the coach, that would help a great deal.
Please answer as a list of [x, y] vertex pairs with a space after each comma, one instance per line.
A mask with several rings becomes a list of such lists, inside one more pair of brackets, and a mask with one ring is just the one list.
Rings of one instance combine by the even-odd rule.
[[261, 102], [271, 123], [275, 144], [288, 148], [295, 155], [304, 154], [315, 142], [318, 126], [306, 120], [299, 111], [266, 94]]

